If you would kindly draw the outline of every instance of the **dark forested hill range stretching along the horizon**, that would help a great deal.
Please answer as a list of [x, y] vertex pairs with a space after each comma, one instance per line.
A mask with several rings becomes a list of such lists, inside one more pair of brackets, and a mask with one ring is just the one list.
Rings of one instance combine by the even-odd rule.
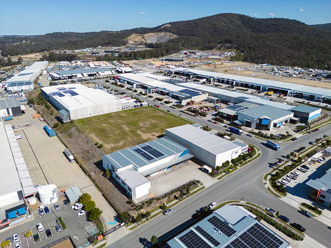
[[[163, 51], [155, 55], [164, 54], [164, 50], [167, 53], [182, 48], [210, 50], [231, 44], [240, 52], [237, 59], [244, 61], [331, 68], [331, 32], [328, 30], [290, 19], [256, 19], [237, 14], [219, 14], [119, 32], [55, 32], [38, 37], [2, 37], [0, 50], [3, 55], [17, 55], [54, 49], [122, 46], [130, 35], [150, 32], [171, 32], [178, 36], [166, 43], [147, 44]], [[129, 57], [132, 56], [138, 57]]]

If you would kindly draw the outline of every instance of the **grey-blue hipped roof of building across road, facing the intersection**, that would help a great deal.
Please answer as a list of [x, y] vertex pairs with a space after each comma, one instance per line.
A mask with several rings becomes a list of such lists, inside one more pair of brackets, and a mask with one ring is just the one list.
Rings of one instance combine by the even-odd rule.
[[265, 113], [267, 117], [269, 117], [271, 120], [277, 120], [286, 115], [293, 115], [293, 112], [291, 111], [285, 111], [281, 108], [275, 108], [268, 105], [258, 106], [256, 108], [251, 108], [247, 111], [238, 111], [238, 114], [246, 115], [255, 119], [261, 117], [263, 113]]

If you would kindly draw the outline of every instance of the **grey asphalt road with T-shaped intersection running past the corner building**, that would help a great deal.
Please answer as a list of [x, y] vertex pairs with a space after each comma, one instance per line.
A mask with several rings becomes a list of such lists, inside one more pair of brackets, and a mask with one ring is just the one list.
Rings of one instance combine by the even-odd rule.
[[[96, 83], [102, 84], [101, 81]], [[104, 83], [104, 85], [110, 86], [111, 88], [117, 88], [106, 83]], [[129, 90], [120, 89], [120, 91], [124, 91], [128, 95], [135, 95], [135, 93], [132, 93]], [[145, 99], [143, 96], [140, 96], [140, 99], [144, 99], [144, 101], [149, 102], [151, 105], [156, 104], [153, 102], [153, 99]], [[172, 113], [178, 115], [180, 114], [178, 110], [173, 110], [172, 108], [169, 108], [169, 106], [161, 104], [157, 105], [164, 110], [171, 109]], [[202, 119], [200, 117], [192, 117], [191, 115], [185, 115], [183, 113], [181, 114], [183, 117], [192, 120], [193, 122], [198, 122], [204, 126], [209, 125], [216, 131], [228, 131], [227, 128], [224, 128], [220, 124], [207, 122], [206, 119]], [[220, 203], [226, 200], [247, 200], [263, 207], [272, 207], [272, 209], [279, 211], [282, 215], [290, 218], [291, 223], [296, 222], [305, 227], [307, 229], [305, 233], [308, 236], [321, 242], [321, 244], [326, 247], [331, 247], [330, 230], [326, 225], [318, 220], [315, 220], [314, 218], [307, 218], [303, 216], [290, 204], [286, 204], [269, 193], [263, 185], [263, 176], [270, 170], [270, 163], [276, 162], [278, 158], [282, 158], [284, 160], [284, 156], [289, 154], [291, 151], [296, 150], [298, 146], [309, 147], [310, 141], [314, 138], [323, 137], [324, 134], [331, 136], [330, 125], [320, 128], [320, 131], [316, 131], [315, 133], [303, 135], [303, 137], [300, 137], [295, 142], [291, 141], [279, 143], [281, 146], [279, 151], [274, 151], [267, 147], [265, 140], [261, 140], [256, 137], [249, 137], [247, 135], [238, 136], [240, 140], [258, 146], [258, 148], [261, 149], [261, 157], [243, 168], [238, 169], [234, 173], [227, 175], [227, 177], [223, 178], [211, 187], [208, 187], [184, 202], [177, 204], [173, 207], [173, 213], [168, 216], [161, 215], [157, 218], [149, 220], [147, 224], [135, 229], [125, 238], [122, 238], [107, 247], [144, 247], [147, 240], [150, 240], [153, 235], [157, 236], [159, 241], [167, 240], [173, 236], [173, 233], [185, 229], [185, 226], [192, 221], [191, 215], [195, 213], [196, 210], [200, 209], [200, 207], [204, 207], [211, 202]]]

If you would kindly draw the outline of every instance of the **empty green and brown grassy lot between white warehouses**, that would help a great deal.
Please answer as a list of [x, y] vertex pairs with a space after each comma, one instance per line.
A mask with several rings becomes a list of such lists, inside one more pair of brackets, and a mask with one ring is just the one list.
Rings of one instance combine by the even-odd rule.
[[151, 106], [75, 120], [80, 130], [104, 144], [106, 153], [155, 140], [165, 129], [185, 124], [191, 123]]

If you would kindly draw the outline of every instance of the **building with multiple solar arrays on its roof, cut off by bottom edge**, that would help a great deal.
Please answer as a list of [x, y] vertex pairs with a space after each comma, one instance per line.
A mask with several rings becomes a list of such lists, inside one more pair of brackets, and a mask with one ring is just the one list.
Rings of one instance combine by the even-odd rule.
[[287, 248], [290, 243], [244, 207], [225, 205], [167, 244], [170, 248]]

